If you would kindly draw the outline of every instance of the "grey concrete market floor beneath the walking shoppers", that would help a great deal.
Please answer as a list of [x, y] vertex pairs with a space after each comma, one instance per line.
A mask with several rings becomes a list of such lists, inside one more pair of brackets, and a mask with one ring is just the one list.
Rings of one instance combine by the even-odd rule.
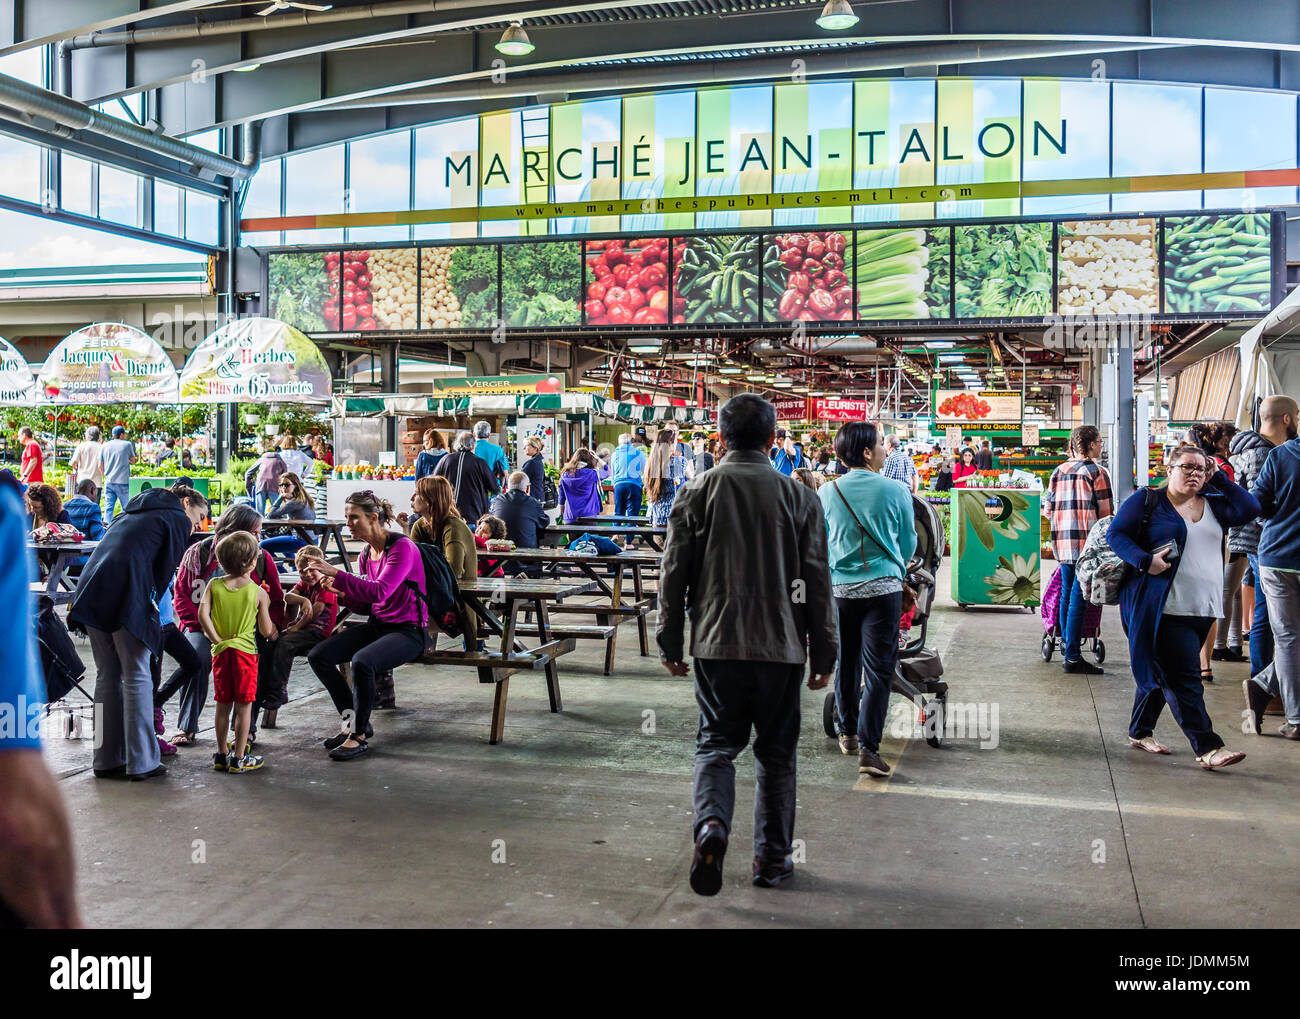
[[374, 750], [332, 762], [320, 740], [337, 716], [302, 663], [257, 773], [214, 773], [202, 747], [173, 758], [164, 780], [100, 781], [88, 741], [48, 741], [83, 915], [254, 928], [1294, 924], [1300, 747], [1271, 716], [1268, 736], [1240, 734], [1245, 665], [1217, 664], [1206, 698], [1249, 756], [1204, 772], [1167, 714], [1157, 734], [1171, 756], [1127, 746], [1132, 678], [1115, 610], [1108, 673], [1063, 676], [1040, 658], [1036, 615], [962, 612], [941, 584], [931, 643], [953, 702], [983, 703], [989, 720], [996, 706], [997, 746], [889, 738], [894, 776], [859, 780], [822, 733], [822, 693], [805, 690], [806, 862], [780, 889], [749, 884], [746, 753], [725, 886], [711, 899], [689, 890], [692, 684], [638, 658], [624, 625], [615, 676], [601, 675], [594, 643], [562, 660], [562, 715], [540, 678], [517, 676], [499, 746], [488, 745], [489, 688], [464, 669], [406, 667]]

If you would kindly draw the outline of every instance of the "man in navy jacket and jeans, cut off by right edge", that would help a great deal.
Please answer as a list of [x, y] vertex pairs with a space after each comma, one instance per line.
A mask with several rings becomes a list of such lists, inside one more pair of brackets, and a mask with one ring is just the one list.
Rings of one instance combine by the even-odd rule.
[[[1256, 567], [1256, 606], [1266, 604], [1265, 633], [1273, 645], [1271, 664], [1256, 668], [1256, 623], [1251, 626], [1251, 672], [1245, 704], [1254, 732], [1260, 732], [1264, 710], [1277, 695], [1282, 698], [1286, 724], [1278, 733], [1300, 740], [1300, 408], [1290, 396], [1269, 396], [1260, 406], [1260, 437], [1271, 443], [1251, 493], [1260, 500], [1258, 546], [1252, 558]], [[1235, 443], [1234, 443], [1235, 445]], [[1240, 478], [1240, 476], [1239, 476]], [[1261, 649], [1266, 650], [1266, 649]]]

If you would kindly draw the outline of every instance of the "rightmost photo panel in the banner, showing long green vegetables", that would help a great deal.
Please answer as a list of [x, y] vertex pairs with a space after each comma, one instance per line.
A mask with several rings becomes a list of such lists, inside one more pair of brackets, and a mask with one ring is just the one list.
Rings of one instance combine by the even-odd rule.
[[1165, 311], [1269, 311], [1271, 243], [1266, 212], [1167, 216]]

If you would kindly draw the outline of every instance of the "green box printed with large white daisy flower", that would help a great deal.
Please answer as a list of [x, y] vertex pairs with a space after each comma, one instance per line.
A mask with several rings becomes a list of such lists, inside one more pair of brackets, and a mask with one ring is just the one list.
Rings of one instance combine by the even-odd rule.
[[953, 600], [1024, 606], [1043, 600], [1039, 499], [1022, 489], [953, 489], [949, 551]]

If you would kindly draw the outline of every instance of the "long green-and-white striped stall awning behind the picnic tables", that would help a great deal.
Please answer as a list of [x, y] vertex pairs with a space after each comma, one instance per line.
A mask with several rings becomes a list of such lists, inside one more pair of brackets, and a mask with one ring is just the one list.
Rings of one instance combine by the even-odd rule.
[[592, 413], [625, 424], [651, 425], [677, 422], [684, 425], [711, 425], [712, 412], [698, 407], [640, 407], [634, 403], [598, 396], [593, 393], [525, 394], [493, 396], [335, 396], [335, 417], [346, 415], [398, 416], [398, 415], [456, 415], [484, 413]]

